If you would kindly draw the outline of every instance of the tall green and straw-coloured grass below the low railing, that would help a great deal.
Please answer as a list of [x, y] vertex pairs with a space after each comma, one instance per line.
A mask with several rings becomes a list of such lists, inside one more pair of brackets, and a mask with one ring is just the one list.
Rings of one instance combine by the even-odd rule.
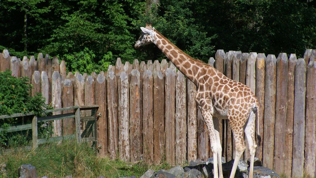
[[[22, 164], [32, 164], [38, 177], [62, 178], [72, 175], [75, 178], [99, 177], [117, 178], [135, 175], [140, 177], [149, 169], [142, 163], [131, 165], [119, 160], [97, 157], [96, 152], [87, 143], [78, 144], [66, 141], [62, 144], [47, 144], [35, 150], [15, 149], [1, 151], [0, 163], [6, 164], [7, 175], [0, 177], [18, 177], [18, 168]], [[163, 164], [152, 169], [166, 168]]]

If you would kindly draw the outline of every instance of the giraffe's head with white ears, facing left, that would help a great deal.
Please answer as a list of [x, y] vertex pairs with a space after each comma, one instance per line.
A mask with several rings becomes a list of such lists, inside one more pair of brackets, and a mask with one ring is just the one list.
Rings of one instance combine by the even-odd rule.
[[148, 45], [150, 43], [155, 43], [155, 28], [151, 27], [151, 24], [146, 24], [146, 28], [141, 27], [142, 34], [135, 43], [135, 48], [139, 48], [143, 45]]

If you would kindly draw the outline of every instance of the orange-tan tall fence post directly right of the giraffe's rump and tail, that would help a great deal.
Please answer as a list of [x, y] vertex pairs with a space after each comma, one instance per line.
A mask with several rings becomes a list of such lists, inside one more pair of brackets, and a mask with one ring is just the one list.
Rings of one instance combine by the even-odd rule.
[[[265, 54], [259, 53], [257, 55], [256, 59], [256, 96], [259, 101], [259, 112], [260, 112], [260, 118], [259, 118], [259, 134], [263, 136], [263, 116], [264, 116], [264, 80], [265, 80]], [[256, 129], [257, 132], [257, 129]], [[261, 139], [260, 147], [257, 147], [256, 151], [256, 157], [258, 157], [260, 160], [262, 160], [262, 145], [263, 145], [263, 139]]]

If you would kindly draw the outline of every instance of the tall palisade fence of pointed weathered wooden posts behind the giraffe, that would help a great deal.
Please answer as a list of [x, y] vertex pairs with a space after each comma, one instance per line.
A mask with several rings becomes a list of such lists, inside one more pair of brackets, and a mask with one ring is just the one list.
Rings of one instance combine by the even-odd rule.
[[[55, 108], [98, 104], [100, 156], [136, 162], [170, 164], [212, 156], [206, 126], [194, 101], [196, 87], [166, 60], [134, 60], [110, 65], [98, 75], [66, 74], [64, 61], [39, 53], [22, 61], [0, 54], [1, 71], [31, 78]], [[304, 58], [295, 54], [265, 55], [218, 50], [209, 64], [227, 77], [248, 85], [261, 104], [263, 165], [288, 176], [315, 176], [316, 51]], [[215, 62], [215, 64], [214, 64]], [[234, 143], [226, 120], [214, 119], [222, 133], [223, 157], [234, 158]], [[62, 124], [62, 123], [60, 123]], [[248, 149], [243, 155], [249, 158]]]

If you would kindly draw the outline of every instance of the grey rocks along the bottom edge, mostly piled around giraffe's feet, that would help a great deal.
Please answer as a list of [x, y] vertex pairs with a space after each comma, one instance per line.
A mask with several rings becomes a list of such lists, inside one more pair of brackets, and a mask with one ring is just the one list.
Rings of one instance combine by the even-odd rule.
[[[233, 167], [234, 160], [225, 162], [222, 158], [222, 168], [223, 177], [229, 177], [231, 169]], [[239, 160], [238, 167], [236, 170], [235, 178], [247, 178], [249, 177], [249, 160], [248, 163], [244, 160]], [[0, 167], [5, 167], [1, 166]], [[149, 169], [140, 178], [213, 178], [213, 158], [209, 158], [206, 162], [199, 159], [191, 161], [189, 166], [182, 168], [181, 166], [175, 166], [172, 169], [164, 170], [161, 169], [155, 172]], [[2, 171], [2, 172], [1, 172]], [[0, 169], [0, 173], [3, 174], [3, 169]], [[255, 158], [254, 168], [253, 168], [254, 178], [279, 178], [280, 176], [276, 174], [273, 170], [262, 167], [262, 163], [258, 158]], [[31, 164], [24, 164], [19, 167], [19, 178], [37, 178], [36, 169]], [[47, 178], [46, 176], [41, 178]], [[71, 175], [64, 178], [72, 178]], [[104, 178], [100, 176], [98, 178]], [[122, 177], [122, 178], [136, 178]]]

